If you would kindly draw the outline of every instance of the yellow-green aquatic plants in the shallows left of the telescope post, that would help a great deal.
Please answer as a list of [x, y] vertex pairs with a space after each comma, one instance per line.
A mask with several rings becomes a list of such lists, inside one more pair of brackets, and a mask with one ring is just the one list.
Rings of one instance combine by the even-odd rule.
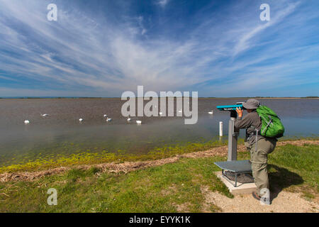
[[[74, 153], [47, 153], [30, 152], [25, 155], [16, 155], [11, 160], [4, 162], [0, 166], [0, 172], [16, 171], [35, 171], [52, 167], [72, 166], [72, 165], [91, 165], [103, 162], [133, 162], [142, 160], [157, 160], [164, 157], [191, 153], [199, 150], [208, 150], [209, 148], [226, 145], [226, 142], [219, 140], [201, 140], [198, 143], [177, 143], [175, 145], [162, 145], [160, 147], [150, 148], [147, 153], [128, 153], [126, 149], [117, 149], [110, 152], [105, 148], [94, 147], [94, 149], [79, 148], [81, 145], [69, 143], [64, 148], [78, 147]], [[93, 150], [93, 151], [92, 151]]]

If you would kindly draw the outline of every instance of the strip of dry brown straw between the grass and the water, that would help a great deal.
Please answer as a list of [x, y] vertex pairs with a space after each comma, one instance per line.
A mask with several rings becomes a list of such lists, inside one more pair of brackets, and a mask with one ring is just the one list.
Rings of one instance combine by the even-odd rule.
[[[303, 145], [303, 144], [315, 144], [319, 145], [319, 140], [293, 140], [293, 141], [283, 141], [277, 143], [277, 146], [292, 144], [292, 145]], [[174, 157], [167, 157], [161, 160], [151, 160], [144, 162], [123, 162], [123, 163], [102, 163], [98, 165], [79, 165], [72, 167], [57, 167], [50, 170], [42, 170], [35, 172], [13, 172], [13, 173], [3, 173], [0, 174], [0, 182], [9, 182], [9, 181], [33, 181], [40, 177], [48, 176], [48, 175], [59, 175], [68, 170], [77, 168], [81, 170], [89, 170], [91, 167], [98, 168], [101, 172], [130, 172], [134, 170], [140, 170], [147, 167], [155, 167], [159, 165], [164, 165], [167, 163], [177, 162], [182, 157], [189, 158], [199, 158], [199, 157], [213, 157], [213, 156], [225, 156], [227, 154], [228, 146], [223, 146], [220, 148], [212, 148], [211, 150], [198, 151], [194, 153], [186, 153], [183, 155], [176, 155]], [[245, 145], [238, 145], [238, 151], [245, 151]]]

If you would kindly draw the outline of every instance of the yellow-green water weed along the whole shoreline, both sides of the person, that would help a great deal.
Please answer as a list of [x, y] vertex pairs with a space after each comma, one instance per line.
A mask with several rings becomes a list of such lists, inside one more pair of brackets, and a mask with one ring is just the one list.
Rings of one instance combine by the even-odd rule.
[[[312, 138], [315, 140], [316, 138]], [[318, 139], [318, 138], [317, 138]], [[281, 140], [284, 141], [284, 140]], [[92, 165], [106, 162], [134, 162], [145, 160], [159, 160], [164, 157], [172, 157], [184, 153], [192, 153], [201, 150], [209, 150], [223, 145], [227, 145], [227, 140], [198, 140], [197, 142], [179, 141], [177, 143], [159, 146], [147, 145], [137, 146], [132, 153], [130, 143], [121, 143], [121, 148], [116, 145], [100, 143], [84, 145], [84, 143], [65, 142], [56, 145], [56, 150], [52, 148], [39, 148], [30, 150], [28, 153], [16, 153], [10, 157], [1, 156], [0, 172], [21, 172], [45, 170], [52, 167]], [[238, 144], [243, 144], [244, 139], [239, 138]], [[108, 149], [111, 148], [111, 149]]]

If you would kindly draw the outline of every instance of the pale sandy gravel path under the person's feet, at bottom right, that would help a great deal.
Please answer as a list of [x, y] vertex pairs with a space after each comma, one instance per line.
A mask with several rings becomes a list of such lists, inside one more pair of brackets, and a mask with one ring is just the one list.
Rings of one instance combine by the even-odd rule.
[[315, 201], [307, 201], [301, 193], [280, 192], [270, 205], [262, 205], [251, 194], [237, 195], [230, 199], [218, 192], [201, 189], [206, 204], [214, 204], [226, 213], [319, 213], [319, 205]]

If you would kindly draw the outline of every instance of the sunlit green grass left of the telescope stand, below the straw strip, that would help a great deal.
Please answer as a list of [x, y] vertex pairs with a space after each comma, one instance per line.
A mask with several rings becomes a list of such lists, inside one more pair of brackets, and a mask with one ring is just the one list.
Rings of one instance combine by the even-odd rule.
[[[0, 184], [0, 211], [30, 212], [176, 212], [179, 204], [199, 212], [204, 196], [201, 187], [232, 197], [213, 174], [213, 161], [223, 157], [183, 159], [177, 163], [130, 172], [127, 175], [97, 170], [70, 170], [36, 182]], [[95, 173], [95, 174], [94, 174]], [[57, 206], [47, 205], [47, 189], [58, 193]], [[213, 204], [211, 204], [213, 207]]]

